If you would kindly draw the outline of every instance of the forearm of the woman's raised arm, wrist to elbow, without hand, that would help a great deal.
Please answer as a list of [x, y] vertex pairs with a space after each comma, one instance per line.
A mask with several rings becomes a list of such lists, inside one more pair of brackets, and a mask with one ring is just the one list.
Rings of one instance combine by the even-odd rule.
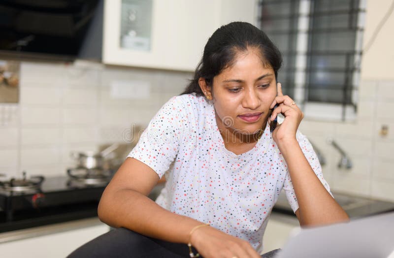
[[332, 198], [316, 176], [298, 142], [296, 140], [288, 141], [280, 146], [280, 150], [288, 165], [296, 193], [301, 226], [349, 220], [346, 212]]

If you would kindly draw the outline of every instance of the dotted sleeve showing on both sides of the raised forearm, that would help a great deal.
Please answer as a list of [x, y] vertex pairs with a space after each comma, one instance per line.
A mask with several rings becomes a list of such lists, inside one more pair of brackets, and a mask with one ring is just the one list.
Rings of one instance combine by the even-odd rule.
[[[296, 138], [301, 147], [302, 153], [304, 154], [306, 160], [309, 162], [316, 176], [319, 178], [320, 182], [322, 182], [323, 186], [326, 188], [329, 194], [330, 188], [328, 186], [327, 181], [323, 177], [322, 166], [320, 165], [319, 159], [313, 150], [312, 144], [308, 141], [308, 139], [301, 132], [297, 131]], [[285, 182], [283, 184], [283, 190], [286, 193], [287, 200], [290, 206], [293, 209], [293, 212], [296, 212], [298, 209], [298, 202], [296, 198], [296, 193], [294, 192], [292, 180], [290, 178], [289, 171], [286, 173]], [[332, 196], [332, 194], [331, 194]]]

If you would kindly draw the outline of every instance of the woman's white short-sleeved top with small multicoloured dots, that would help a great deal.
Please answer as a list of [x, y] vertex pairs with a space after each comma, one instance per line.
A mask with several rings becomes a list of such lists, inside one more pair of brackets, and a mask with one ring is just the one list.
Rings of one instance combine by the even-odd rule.
[[[329, 192], [311, 144], [298, 143]], [[128, 157], [150, 166], [166, 184], [156, 202], [247, 240], [261, 251], [268, 216], [283, 189], [298, 209], [288, 168], [269, 126], [256, 146], [236, 155], [227, 150], [213, 104], [195, 94], [172, 97], [155, 115]]]

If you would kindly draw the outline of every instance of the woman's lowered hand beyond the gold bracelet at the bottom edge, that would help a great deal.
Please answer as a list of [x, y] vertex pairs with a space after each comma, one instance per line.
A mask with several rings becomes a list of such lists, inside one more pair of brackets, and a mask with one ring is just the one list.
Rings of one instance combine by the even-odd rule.
[[247, 241], [211, 226], [194, 231], [191, 242], [204, 258], [261, 258]]

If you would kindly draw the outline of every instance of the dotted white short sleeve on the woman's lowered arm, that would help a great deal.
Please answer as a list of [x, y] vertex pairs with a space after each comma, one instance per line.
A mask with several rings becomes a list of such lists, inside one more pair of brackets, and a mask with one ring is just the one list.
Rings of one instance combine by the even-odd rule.
[[186, 117], [182, 98], [172, 97], [150, 121], [128, 157], [145, 163], [162, 178], [178, 154], [188, 128]]

